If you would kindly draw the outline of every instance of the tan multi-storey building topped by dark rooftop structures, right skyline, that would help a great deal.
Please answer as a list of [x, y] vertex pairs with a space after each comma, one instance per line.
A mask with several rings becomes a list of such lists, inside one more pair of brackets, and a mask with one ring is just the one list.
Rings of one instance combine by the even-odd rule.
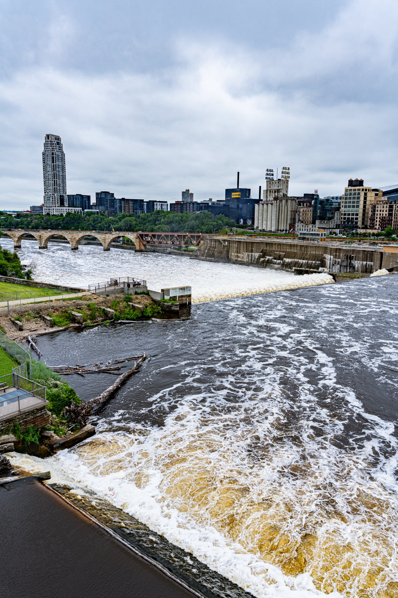
[[372, 189], [363, 184], [363, 179], [349, 179], [341, 196], [341, 227], [367, 228], [369, 210], [378, 197], [380, 189]]

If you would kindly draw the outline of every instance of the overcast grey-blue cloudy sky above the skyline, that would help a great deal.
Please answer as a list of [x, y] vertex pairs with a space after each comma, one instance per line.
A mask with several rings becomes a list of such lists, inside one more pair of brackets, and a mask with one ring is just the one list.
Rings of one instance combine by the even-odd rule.
[[68, 193], [196, 200], [398, 184], [396, 0], [0, 0], [0, 208]]

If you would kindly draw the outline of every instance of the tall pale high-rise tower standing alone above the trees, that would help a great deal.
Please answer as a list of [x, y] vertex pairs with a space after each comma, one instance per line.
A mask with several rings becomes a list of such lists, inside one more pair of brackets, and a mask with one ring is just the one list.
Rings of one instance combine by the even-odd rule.
[[43, 177], [45, 214], [81, 212], [79, 208], [68, 208], [66, 194], [65, 154], [58, 135], [44, 138]]

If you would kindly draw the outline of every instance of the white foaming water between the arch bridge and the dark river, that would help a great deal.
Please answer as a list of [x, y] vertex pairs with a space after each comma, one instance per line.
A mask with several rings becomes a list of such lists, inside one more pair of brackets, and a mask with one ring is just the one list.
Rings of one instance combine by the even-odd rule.
[[[1, 239], [12, 249], [11, 239]], [[189, 260], [165, 254], [141, 254], [124, 249], [103, 251], [102, 247], [81, 245], [71, 251], [69, 244], [49, 243], [38, 249], [36, 241], [22, 241], [21, 260], [35, 264], [35, 279], [62, 285], [84, 286], [111, 277], [144, 279], [153, 291], [171, 286], [192, 286], [192, 302], [211, 301], [302, 286], [333, 282], [328, 274], [294, 274], [270, 270]]]

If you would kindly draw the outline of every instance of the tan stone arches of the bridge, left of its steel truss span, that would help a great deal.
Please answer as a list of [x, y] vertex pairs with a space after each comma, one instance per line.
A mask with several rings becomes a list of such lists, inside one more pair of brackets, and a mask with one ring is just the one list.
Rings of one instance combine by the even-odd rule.
[[109, 251], [113, 241], [120, 237], [127, 237], [130, 239], [137, 251], [146, 251], [146, 245], [140, 239], [138, 233], [129, 231], [95, 231], [95, 230], [30, 230], [30, 229], [18, 229], [18, 230], [3, 230], [3, 233], [7, 234], [13, 239], [14, 249], [20, 248], [21, 241], [24, 237], [32, 235], [39, 243], [39, 249], [47, 249], [48, 242], [54, 236], [62, 236], [70, 243], [71, 249], [79, 249], [79, 243], [85, 239], [85, 237], [95, 237], [100, 241], [104, 248], [104, 251]]

